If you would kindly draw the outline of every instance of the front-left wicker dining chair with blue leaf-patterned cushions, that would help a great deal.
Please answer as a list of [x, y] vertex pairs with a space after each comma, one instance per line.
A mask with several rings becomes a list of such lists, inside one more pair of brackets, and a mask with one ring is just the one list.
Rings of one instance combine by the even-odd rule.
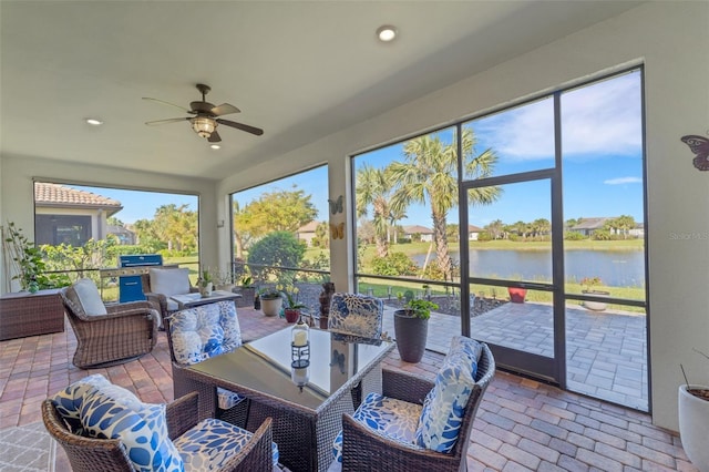
[[42, 402], [42, 420], [74, 472], [270, 471], [278, 468], [271, 419], [255, 432], [197, 418], [198, 393], [143, 403], [101, 374]]

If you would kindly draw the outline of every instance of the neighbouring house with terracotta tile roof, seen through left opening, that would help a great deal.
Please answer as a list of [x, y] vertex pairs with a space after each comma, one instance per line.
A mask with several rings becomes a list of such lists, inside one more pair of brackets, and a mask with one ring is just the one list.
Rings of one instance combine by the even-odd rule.
[[34, 242], [83, 246], [109, 234], [106, 219], [121, 202], [64, 185], [34, 183]]

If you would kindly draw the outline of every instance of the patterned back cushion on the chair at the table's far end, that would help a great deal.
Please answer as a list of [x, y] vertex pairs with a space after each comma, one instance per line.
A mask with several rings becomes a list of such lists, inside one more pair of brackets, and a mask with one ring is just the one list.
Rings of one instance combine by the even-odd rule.
[[381, 338], [384, 304], [359, 294], [333, 294], [328, 330], [362, 338]]

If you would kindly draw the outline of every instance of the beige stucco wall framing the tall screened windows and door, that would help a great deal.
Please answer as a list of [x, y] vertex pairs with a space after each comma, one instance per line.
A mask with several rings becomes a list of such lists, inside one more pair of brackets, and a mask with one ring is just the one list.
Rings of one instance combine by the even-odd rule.
[[[709, 130], [709, 3], [651, 2], [555, 41], [308, 146], [222, 181], [218, 195], [322, 162], [330, 195], [349, 195], [348, 155], [580, 79], [645, 64], [651, 408], [677, 430], [679, 365], [709, 383], [709, 173], [679, 141]], [[274, 165], [277, 162], [278, 165]], [[351, 215], [351, 202], [348, 202]], [[222, 207], [218, 212], [224, 212]], [[348, 222], [351, 217], [348, 216]], [[348, 224], [349, 226], [349, 224]], [[348, 287], [351, 235], [332, 244], [332, 279]], [[220, 250], [228, 242], [220, 238]]]

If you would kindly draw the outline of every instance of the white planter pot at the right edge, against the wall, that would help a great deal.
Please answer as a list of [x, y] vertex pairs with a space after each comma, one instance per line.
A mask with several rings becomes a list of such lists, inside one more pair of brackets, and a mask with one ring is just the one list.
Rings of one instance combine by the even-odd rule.
[[[689, 386], [690, 389], [709, 389]], [[691, 463], [709, 472], [709, 401], [695, 397], [687, 386], [679, 386], [679, 438]]]

